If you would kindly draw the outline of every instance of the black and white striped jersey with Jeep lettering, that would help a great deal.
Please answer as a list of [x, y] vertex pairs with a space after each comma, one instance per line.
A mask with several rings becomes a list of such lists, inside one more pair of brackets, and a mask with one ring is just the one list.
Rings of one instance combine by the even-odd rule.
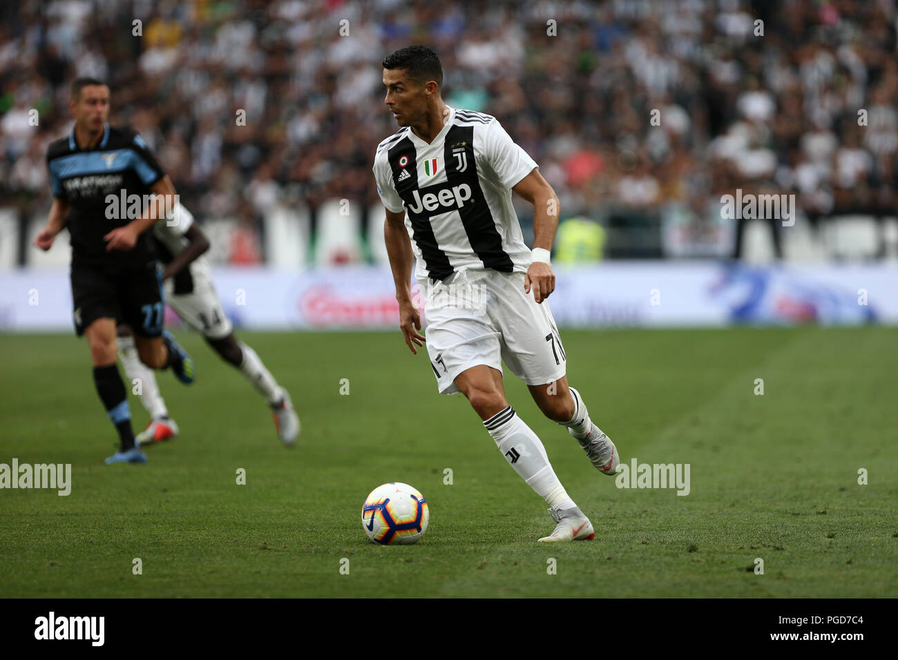
[[511, 189], [537, 164], [496, 118], [449, 108], [429, 145], [402, 128], [377, 146], [374, 179], [383, 206], [406, 210], [418, 279], [445, 279], [460, 268], [526, 272]]

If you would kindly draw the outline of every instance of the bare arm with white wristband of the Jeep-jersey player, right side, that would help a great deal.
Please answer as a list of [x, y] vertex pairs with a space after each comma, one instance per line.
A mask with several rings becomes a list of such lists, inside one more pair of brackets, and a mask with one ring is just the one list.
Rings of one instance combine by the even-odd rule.
[[[533, 250], [551, 251], [559, 228], [559, 198], [555, 195], [555, 190], [542, 178], [537, 168], [533, 168], [512, 189], [533, 204]], [[548, 261], [548, 254], [543, 254]], [[531, 288], [537, 303], [548, 298], [555, 290], [555, 273], [548, 263], [534, 260], [530, 268], [527, 268], [524, 291], [529, 294]]]

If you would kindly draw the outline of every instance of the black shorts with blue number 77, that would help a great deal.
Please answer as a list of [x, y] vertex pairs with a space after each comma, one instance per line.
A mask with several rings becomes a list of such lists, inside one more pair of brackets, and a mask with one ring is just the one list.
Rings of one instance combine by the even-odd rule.
[[93, 321], [102, 318], [128, 323], [142, 337], [162, 334], [165, 297], [158, 265], [121, 268], [73, 264], [69, 275], [79, 337]]

